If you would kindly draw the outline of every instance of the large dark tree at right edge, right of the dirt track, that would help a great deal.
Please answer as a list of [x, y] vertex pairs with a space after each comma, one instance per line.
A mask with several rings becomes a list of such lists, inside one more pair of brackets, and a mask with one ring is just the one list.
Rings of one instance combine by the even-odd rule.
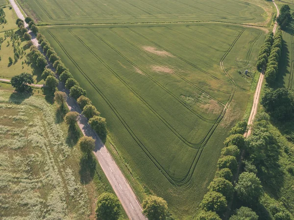
[[269, 89], [261, 99], [261, 104], [273, 118], [286, 121], [292, 118], [294, 97], [286, 88]]

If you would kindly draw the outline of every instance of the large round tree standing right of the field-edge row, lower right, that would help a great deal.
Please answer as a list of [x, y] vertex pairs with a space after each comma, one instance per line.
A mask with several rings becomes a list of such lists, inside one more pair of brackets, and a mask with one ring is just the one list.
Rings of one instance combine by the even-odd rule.
[[238, 197], [250, 205], [256, 204], [263, 194], [261, 182], [256, 174], [252, 172], [240, 174], [235, 190]]

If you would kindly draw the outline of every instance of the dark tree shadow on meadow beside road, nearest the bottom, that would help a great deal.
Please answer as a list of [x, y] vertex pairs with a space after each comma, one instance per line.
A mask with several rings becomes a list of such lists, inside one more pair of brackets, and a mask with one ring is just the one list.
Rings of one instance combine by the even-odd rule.
[[88, 184], [94, 178], [97, 162], [92, 154], [84, 154], [80, 159], [80, 182]]

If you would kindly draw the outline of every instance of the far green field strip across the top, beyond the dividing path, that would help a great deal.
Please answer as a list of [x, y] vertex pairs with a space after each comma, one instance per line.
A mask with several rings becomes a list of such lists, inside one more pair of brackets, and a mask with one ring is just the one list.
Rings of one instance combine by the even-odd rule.
[[266, 14], [260, 6], [243, 0], [19, 1], [28, 15], [47, 24], [191, 21], [262, 23], [265, 21], [263, 14]]

